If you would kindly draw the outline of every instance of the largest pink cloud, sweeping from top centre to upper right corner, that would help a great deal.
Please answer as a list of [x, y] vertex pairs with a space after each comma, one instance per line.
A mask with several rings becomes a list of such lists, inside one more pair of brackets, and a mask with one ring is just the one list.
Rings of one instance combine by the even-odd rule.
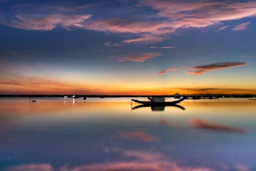
[[[142, 35], [142, 37], [124, 40], [124, 42], [145, 43], [162, 41], [166, 39], [166, 36], [168, 37], [168, 33], [173, 33], [178, 29], [205, 28], [221, 24], [223, 21], [256, 15], [256, 2], [223, 3], [141, 0], [137, 5], [137, 7], [146, 6], [157, 11], [149, 17], [145, 16], [147, 19], [130, 17], [96, 20], [87, 23], [83, 28], [113, 33], [134, 33]], [[143, 16], [141, 17], [143, 18]]]

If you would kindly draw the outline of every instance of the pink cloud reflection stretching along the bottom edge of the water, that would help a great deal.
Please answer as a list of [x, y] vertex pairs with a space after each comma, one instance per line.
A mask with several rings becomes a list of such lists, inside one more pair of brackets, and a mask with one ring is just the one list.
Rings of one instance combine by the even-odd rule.
[[69, 167], [64, 165], [59, 169], [54, 169], [50, 164], [26, 164], [10, 167], [7, 170], [26, 170], [26, 171], [116, 171], [116, 170], [141, 170], [141, 171], [211, 171], [208, 167], [182, 166], [176, 161], [167, 160], [167, 157], [160, 153], [140, 152], [140, 151], [119, 151], [123, 158], [129, 160], [110, 161], [104, 163], [93, 163], [81, 166]]

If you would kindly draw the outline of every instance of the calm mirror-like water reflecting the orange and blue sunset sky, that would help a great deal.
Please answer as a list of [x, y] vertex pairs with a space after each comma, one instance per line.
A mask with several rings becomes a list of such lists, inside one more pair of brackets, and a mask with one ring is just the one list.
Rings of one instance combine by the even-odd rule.
[[0, 170], [256, 170], [256, 100], [136, 105], [0, 98]]

